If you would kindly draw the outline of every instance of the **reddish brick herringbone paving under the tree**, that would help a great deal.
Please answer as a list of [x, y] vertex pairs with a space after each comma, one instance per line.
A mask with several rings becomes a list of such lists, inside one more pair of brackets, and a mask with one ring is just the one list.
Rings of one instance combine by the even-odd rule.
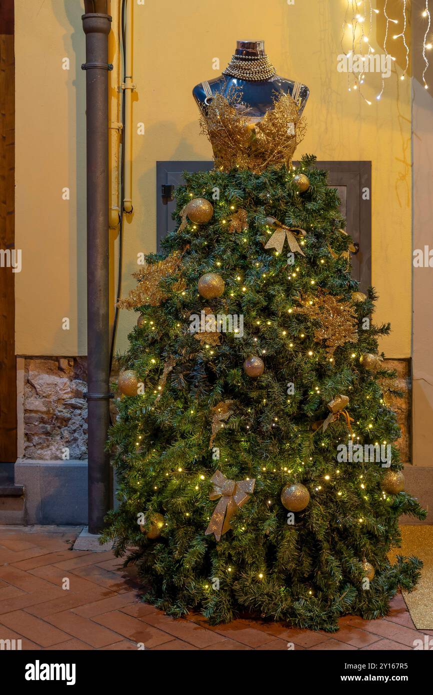
[[[0, 528], [0, 639], [23, 649], [409, 650], [416, 630], [399, 594], [386, 619], [346, 616], [339, 632], [236, 620], [208, 626], [202, 616], [173, 620], [140, 602], [132, 571], [113, 553], [69, 550], [79, 528]], [[69, 580], [69, 589], [62, 584]]]

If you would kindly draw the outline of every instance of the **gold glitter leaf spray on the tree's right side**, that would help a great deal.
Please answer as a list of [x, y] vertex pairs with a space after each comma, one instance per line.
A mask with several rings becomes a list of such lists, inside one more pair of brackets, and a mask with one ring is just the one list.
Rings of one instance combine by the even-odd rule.
[[316, 341], [325, 341], [329, 357], [332, 357], [337, 347], [357, 342], [357, 319], [352, 314], [354, 309], [349, 302], [343, 302], [341, 297], [330, 295], [326, 290], [318, 290], [316, 295], [309, 297], [301, 296], [300, 302], [303, 306], [293, 311], [319, 322], [314, 329], [314, 338]]

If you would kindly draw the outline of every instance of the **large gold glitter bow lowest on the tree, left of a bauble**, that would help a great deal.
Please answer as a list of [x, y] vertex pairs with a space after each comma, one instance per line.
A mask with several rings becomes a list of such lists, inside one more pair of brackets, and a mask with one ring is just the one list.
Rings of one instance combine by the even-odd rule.
[[213, 490], [209, 494], [210, 500], [221, 499], [216, 505], [206, 535], [215, 534], [215, 540], [219, 541], [222, 534], [230, 530], [231, 519], [238, 509], [243, 507], [254, 492], [256, 480], [229, 480], [221, 471], [216, 471], [211, 477]]

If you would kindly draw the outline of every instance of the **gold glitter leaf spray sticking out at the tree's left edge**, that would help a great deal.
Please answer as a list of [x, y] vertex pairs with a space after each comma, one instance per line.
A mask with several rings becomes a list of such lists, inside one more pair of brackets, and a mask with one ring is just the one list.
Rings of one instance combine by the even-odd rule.
[[[143, 306], [144, 304], [159, 306], [159, 304], [168, 297], [168, 294], [159, 287], [159, 281], [163, 279], [163, 277], [175, 275], [179, 270], [181, 260], [181, 252], [175, 251], [163, 261], [149, 263], [146, 268], [142, 268], [142, 270], [138, 270], [138, 272], [133, 272], [132, 277], [138, 279], [138, 284], [136, 288], [129, 292], [126, 299], [117, 302], [117, 306], [119, 306], [120, 309], [136, 309], [136, 307]], [[181, 292], [185, 287], [185, 281], [179, 279], [174, 283], [172, 289], [174, 292]]]

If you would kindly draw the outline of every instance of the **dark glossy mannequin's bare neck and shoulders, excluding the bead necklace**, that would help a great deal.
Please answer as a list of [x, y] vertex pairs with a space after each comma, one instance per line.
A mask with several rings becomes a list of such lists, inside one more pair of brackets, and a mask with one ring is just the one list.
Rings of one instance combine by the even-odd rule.
[[[235, 56], [265, 56], [263, 41], [238, 41]], [[274, 108], [274, 101], [279, 93], [284, 92], [284, 94], [292, 95], [295, 81], [277, 74], [260, 81], [239, 79], [229, 74], [222, 74], [209, 80], [209, 87], [213, 95], [219, 92], [224, 97], [228, 97], [231, 90], [236, 88], [243, 104], [247, 106], [247, 111], [243, 111], [243, 115], [251, 122], [259, 122], [267, 111]], [[301, 114], [309, 97], [307, 85], [298, 84], [297, 94], [300, 103], [299, 114]], [[193, 97], [200, 110], [206, 113], [206, 92], [203, 83], [195, 86]]]

